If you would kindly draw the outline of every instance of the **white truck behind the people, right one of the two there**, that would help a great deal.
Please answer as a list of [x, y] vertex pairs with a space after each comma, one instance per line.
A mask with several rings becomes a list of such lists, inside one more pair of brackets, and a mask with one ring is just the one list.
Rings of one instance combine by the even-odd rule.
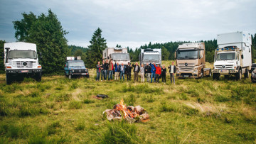
[[139, 63], [155, 62], [156, 65], [161, 65], [161, 49], [142, 49], [139, 55]]

